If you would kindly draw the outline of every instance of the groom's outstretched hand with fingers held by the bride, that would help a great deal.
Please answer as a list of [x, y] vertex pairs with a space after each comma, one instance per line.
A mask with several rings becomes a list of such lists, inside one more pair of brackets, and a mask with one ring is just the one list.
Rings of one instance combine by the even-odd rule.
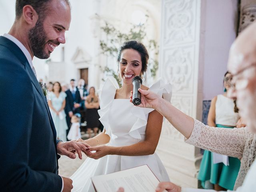
[[87, 147], [90, 147], [90, 145], [86, 144], [85, 142], [59, 142], [57, 145], [57, 152], [59, 155], [66, 155], [71, 159], [76, 158], [75, 153], [77, 152], [78, 157], [82, 159], [82, 150], [86, 151]]

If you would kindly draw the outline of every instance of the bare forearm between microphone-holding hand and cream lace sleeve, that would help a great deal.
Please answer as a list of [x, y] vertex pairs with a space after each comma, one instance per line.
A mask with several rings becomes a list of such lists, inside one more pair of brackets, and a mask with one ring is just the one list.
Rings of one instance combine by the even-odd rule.
[[194, 129], [194, 119], [161, 99], [156, 108], [182, 135], [189, 138]]

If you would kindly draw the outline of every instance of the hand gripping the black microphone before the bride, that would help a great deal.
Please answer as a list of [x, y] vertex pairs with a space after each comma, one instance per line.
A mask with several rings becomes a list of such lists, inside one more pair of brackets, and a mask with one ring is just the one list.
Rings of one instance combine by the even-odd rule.
[[[150, 90], [142, 90], [138, 89], [141, 94], [141, 104], [139, 104], [139, 107], [146, 107], [146, 108], [153, 108], [156, 109], [157, 105], [159, 103], [159, 100], [162, 99], [158, 94], [155, 94], [154, 92]], [[132, 102], [132, 93], [130, 95], [130, 102]]]

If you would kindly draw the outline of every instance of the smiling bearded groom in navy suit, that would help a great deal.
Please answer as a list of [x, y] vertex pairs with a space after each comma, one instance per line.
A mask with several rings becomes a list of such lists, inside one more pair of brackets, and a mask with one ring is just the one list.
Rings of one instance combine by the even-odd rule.
[[68, 192], [59, 155], [82, 158], [86, 144], [56, 140], [56, 130], [32, 64], [46, 59], [70, 26], [68, 0], [16, 0], [16, 18], [0, 36], [0, 191]]

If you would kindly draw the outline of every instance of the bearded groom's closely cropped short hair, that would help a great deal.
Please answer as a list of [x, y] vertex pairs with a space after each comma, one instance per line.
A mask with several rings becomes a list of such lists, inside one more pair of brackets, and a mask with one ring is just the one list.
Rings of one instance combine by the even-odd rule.
[[[38, 14], [38, 17], [41, 19], [45, 18], [48, 14], [48, 6], [52, 0], [16, 0], [16, 7], [15, 7], [15, 13], [16, 13], [16, 19], [19, 19], [22, 15], [23, 7], [26, 5], [30, 5], [34, 8], [36, 13]], [[70, 6], [69, 0], [63, 0]]]

